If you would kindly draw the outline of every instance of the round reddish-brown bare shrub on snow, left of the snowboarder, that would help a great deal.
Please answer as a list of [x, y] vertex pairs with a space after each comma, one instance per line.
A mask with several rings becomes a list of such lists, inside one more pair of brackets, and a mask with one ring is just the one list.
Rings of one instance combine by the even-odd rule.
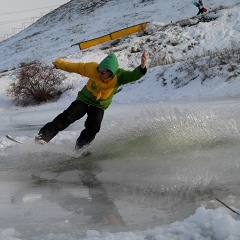
[[36, 61], [23, 65], [7, 92], [22, 106], [56, 100], [71, 88], [62, 85], [65, 78], [65, 75], [54, 67]]

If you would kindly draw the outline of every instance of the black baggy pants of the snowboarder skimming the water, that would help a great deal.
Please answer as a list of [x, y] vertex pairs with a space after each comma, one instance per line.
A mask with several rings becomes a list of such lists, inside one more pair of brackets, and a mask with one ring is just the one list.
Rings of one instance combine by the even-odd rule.
[[103, 109], [75, 100], [65, 111], [54, 118], [52, 122], [43, 126], [39, 134], [42, 135], [46, 142], [49, 142], [59, 131], [64, 130], [70, 124], [82, 118], [86, 113], [88, 116], [85, 121], [85, 129], [81, 132], [76, 142], [76, 149], [78, 150], [84, 145], [89, 144], [100, 131], [104, 115]]

